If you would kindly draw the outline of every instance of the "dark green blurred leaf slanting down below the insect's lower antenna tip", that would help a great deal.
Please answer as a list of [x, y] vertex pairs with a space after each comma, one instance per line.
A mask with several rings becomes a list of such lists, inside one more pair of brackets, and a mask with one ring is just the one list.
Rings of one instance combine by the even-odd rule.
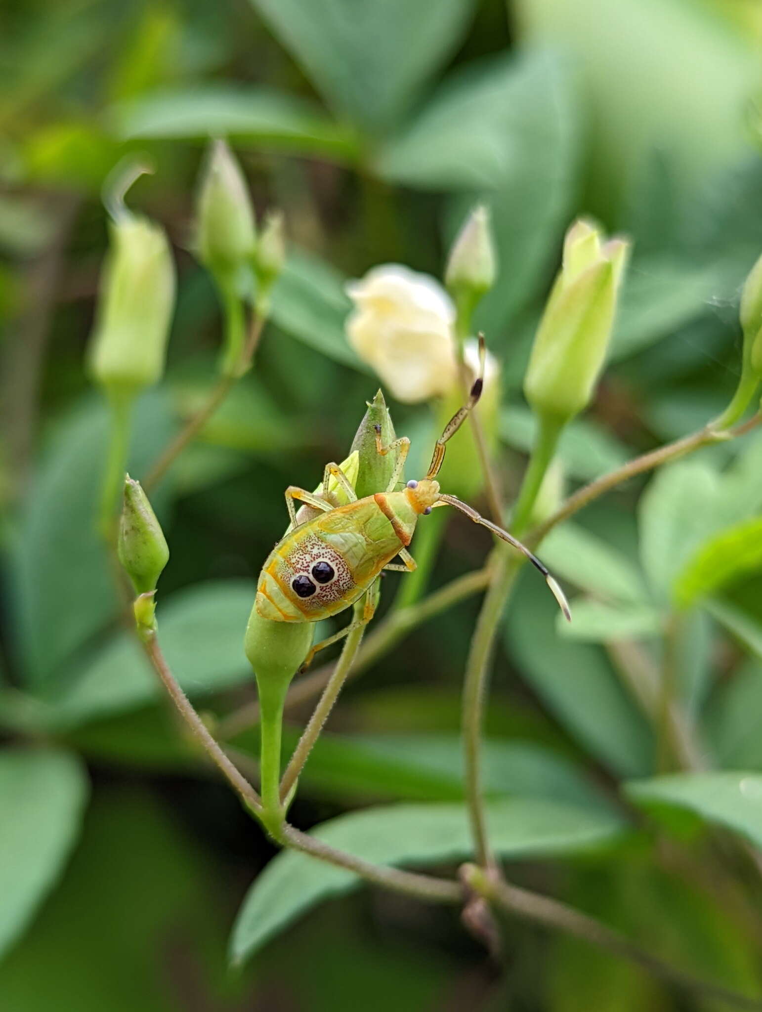
[[544, 704], [597, 759], [625, 776], [648, 773], [654, 746], [645, 718], [600, 648], [556, 634], [556, 605], [538, 584], [522, 579], [514, 592], [505, 649]]

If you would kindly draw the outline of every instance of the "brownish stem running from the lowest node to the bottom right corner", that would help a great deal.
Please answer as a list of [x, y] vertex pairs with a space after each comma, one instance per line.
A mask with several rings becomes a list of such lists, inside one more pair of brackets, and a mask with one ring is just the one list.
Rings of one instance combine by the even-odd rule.
[[637, 963], [655, 977], [703, 998], [725, 1001], [737, 1008], [762, 1009], [762, 1001], [759, 999], [738, 994], [719, 984], [702, 981], [693, 977], [692, 974], [671, 966], [658, 956], [641, 948], [640, 945], [618, 931], [614, 931], [608, 925], [575, 910], [573, 907], [568, 907], [549, 897], [539, 896], [536, 893], [518, 889], [516, 886], [510, 886], [495, 875], [485, 873], [483, 869], [475, 865], [465, 865], [462, 870], [463, 877], [472, 889], [509, 914], [515, 914], [525, 920], [533, 921], [535, 924], [563, 931], [565, 934], [581, 938], [599, 948], [607, 949], [623, 959]]

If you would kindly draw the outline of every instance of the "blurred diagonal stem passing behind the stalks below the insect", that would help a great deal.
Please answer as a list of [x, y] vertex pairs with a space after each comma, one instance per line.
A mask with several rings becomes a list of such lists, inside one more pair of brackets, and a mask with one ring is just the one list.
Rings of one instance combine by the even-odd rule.
[[[476, 570], [474, 573], [467, 573], [457, 577], [450, 583], [440, 587], [439, 590], [430, 594], [423, 601], [410, 605], [407, 608], [400, 608], [393, 611], [377, 627], [367, 636], [360, 646], [357, 658], [350, 671], [350, 676], [354, 677], [361, 671], [365, 671], [374, 664], [380, 657], [384, 657], [401, 640], [403, 640], [416, 625], [438, 614], [445, 608], [456, 604], [458, 601], [470, 597], [472, 594], [484, 590], [490, 579], [490, 571], [485, 568]], [[288, 694], [285, 698], [285, 708], [289, 709], [308, 702], [318, 695], [328, 684], [333, 673], [333, 665], [325, 665], [317, 671], [291, 682]], [[219, 734], [224, 741], [230, 741], [238, 735], [256, 725], [259, 721], [259, 703], [247, 703], [240, 709], [235, 710], [229, 716], [220, 722]]]

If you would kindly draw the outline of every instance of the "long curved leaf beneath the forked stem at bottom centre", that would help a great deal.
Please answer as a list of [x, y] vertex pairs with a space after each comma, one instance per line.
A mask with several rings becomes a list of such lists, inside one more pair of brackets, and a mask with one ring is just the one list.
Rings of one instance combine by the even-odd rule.
[[[579, 853], [621, 829], [610, 814], [531, 798], [493, 802], [487, 818], [495, 852], [513, 858]], [[311, 836], [367, 861], [415, 867], [460, 860], [473, 849], [461, 805], [365, 809], [323, 823]], [[233, 959], [242, 962], [298, 915], [360, 882], [351, 871], [306, 854], [278, 854], [244, 900], [233, 930]]]

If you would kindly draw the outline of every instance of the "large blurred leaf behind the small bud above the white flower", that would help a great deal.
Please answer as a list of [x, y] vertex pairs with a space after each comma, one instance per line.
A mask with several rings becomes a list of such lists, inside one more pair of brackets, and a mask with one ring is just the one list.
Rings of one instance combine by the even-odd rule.
[[417, 119], [382, 148], [395, 183], [467, 191], [492, 210], [499, 274], [476, 324], [498, 335], [546, 281], [577, 174], [578, 117], [566, 63], [545, 52], [485, 60], [454, 73]]

